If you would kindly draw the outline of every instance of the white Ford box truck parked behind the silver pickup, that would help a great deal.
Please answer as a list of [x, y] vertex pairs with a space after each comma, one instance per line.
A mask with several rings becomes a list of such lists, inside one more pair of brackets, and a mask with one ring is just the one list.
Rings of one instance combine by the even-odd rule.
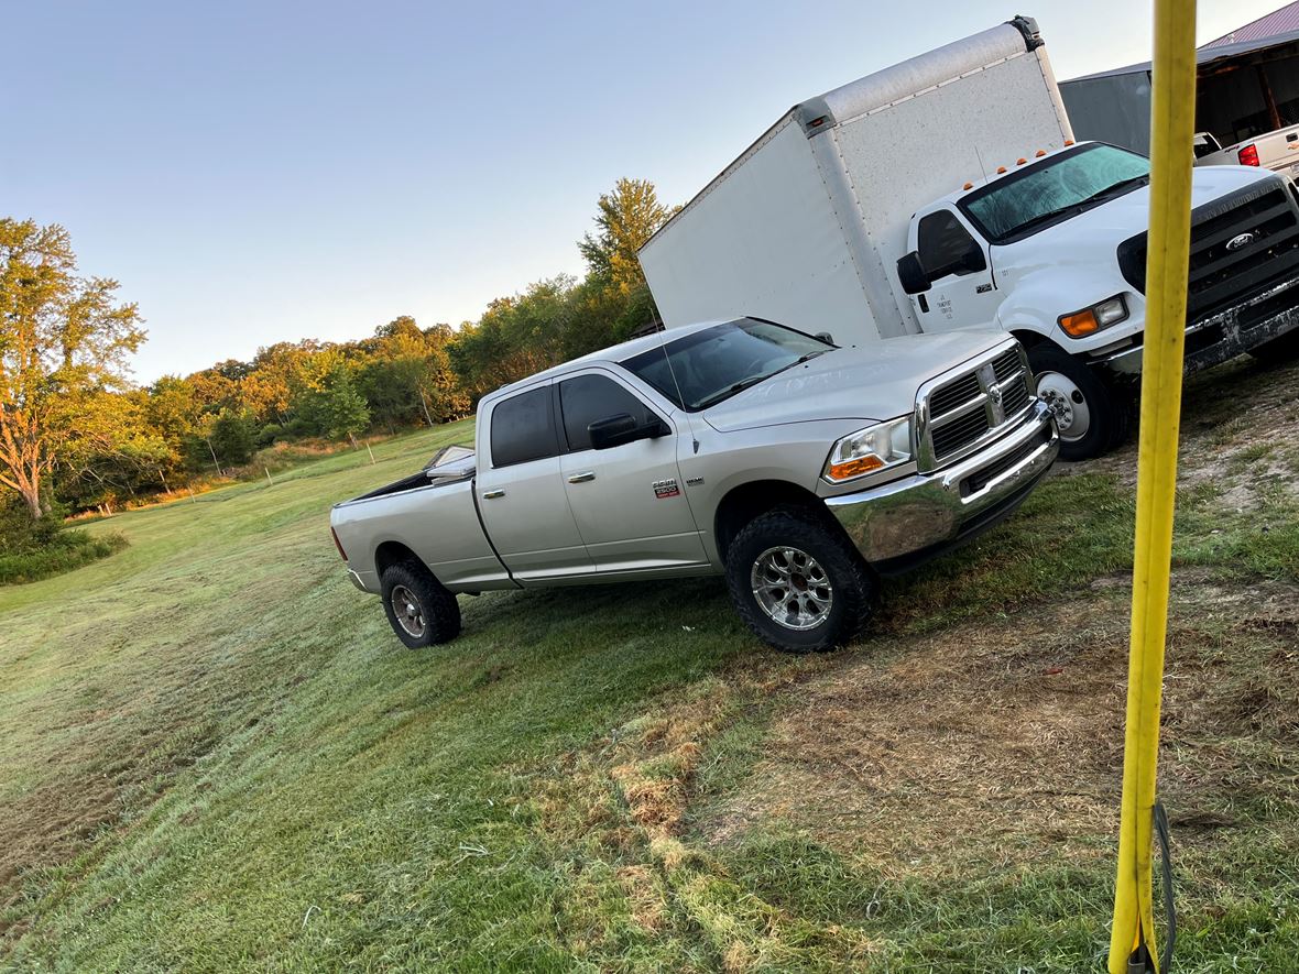
[[[1187, 165], [1191, 164], [1187, 148]], [[1061, 456], [1128, 430], [1144, 332], [1148, 160], [1076, 144], [1028, 17], [782, 116], [639, 252], [664, 323], [761, 317], [859, 345], [1000, 327]], [[1299, 196], [1196, 169], [1187, 368], [1299, 338]]]

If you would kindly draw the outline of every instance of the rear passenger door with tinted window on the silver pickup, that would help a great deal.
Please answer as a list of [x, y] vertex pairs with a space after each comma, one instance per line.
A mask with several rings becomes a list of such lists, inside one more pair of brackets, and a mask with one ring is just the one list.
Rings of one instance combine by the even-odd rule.
[[560, 477], [552, 397], [546, 382], [501, 399], [479, 432], [490, 466], [478, 474], [478, 509], [500, 560], [522, 582], [594, 569]]

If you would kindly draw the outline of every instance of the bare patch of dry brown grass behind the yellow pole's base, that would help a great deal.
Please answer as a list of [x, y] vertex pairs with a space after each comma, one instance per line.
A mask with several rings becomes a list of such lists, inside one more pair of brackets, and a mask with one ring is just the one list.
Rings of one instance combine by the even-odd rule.
[[[895, 875], [1109, 855], [1130, 597], [1111, 582], [1015, 626], [877, 644], [798, 687], [705, 835], [779, 822]], [[1294, 586], [1177, 577], [1160, 788], [1179, 839], [1229, 827], [1251, 793], [1299, 799], [1296, 619]]]

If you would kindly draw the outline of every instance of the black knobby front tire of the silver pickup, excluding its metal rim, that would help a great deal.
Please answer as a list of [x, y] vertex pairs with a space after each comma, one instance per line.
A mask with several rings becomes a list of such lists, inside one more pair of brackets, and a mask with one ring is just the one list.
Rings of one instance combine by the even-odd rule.
[[[830, 608], [814, 627], [787, 629], [768, 614], [753, 592], [760, 557], [782, 547], [811, 556], [829, 582]], [[870, 569], [838, 525], [809, 508], [778, 506], [750, 521], [726, 551], [726, 586], [744, 625], [763, 642], [788, 653], [824, 652], [848, 643], [874, 609]]]

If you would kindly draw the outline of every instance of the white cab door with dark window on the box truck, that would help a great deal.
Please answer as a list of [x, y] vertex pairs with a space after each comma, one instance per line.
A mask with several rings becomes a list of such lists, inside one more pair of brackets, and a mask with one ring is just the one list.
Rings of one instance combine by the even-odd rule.
[[916, 249], [930, 279], [929, 291], [911, 296], [921, 329], [950, 331], [994, 323], [1002, 296], [989, 252], [960, 214], [938, 209], [921, 217]]

